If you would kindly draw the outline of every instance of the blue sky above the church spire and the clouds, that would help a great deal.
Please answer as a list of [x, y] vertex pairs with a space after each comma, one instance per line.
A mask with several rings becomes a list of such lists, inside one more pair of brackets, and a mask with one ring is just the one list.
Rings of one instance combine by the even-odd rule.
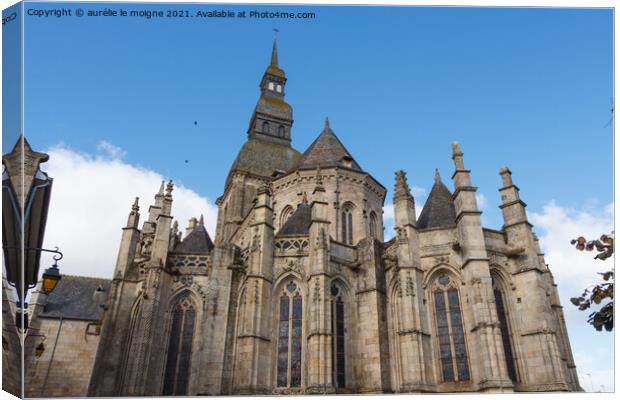
[[[246, 140], [272, 29], [278, 28], [294, 147], [303, 151], [328, 115], [358, 163], [388, 188], [386, 203], [398, 169], [428, 193], [437, 167], [452, 187], [450, 143], [459, 140], [483, 196], [487, 226], [502, 225], [502, 165], [513, 171], [530, 213], [542, 215], [555, 204], [575, 215], [611, 218], [603, 210], [613, 201], [609, 9], [178, 8], [309, 11], [316, 17], [27, 16], [30, 143], [95, 154], [105, 141], [122, 151], [123, 162], [157, 171], [212, 202]], [[568, 243], [566, 251], [572, 251]], [[557, 276], [561, 266], [551, 268]], [[565, 309], [574, 294], [564, 296]], [[611, 335], [589, 327], [575, 324], [569, 331], [575, 352], [595, 354], [612, 343]], [[602, 355], [609, 368], [611, 354]]]

